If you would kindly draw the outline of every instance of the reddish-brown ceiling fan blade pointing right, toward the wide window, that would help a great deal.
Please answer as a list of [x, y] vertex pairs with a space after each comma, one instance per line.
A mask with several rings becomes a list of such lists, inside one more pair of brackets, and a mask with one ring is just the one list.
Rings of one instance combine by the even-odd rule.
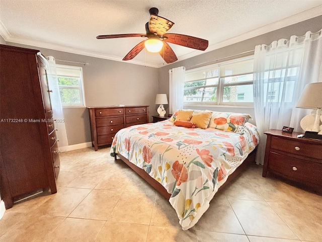
[[165, 34], [165, 41], [173, 44], [179, 44], [193, 49], [205, 50], [208, 47], [208, 40], [184, 34]]

